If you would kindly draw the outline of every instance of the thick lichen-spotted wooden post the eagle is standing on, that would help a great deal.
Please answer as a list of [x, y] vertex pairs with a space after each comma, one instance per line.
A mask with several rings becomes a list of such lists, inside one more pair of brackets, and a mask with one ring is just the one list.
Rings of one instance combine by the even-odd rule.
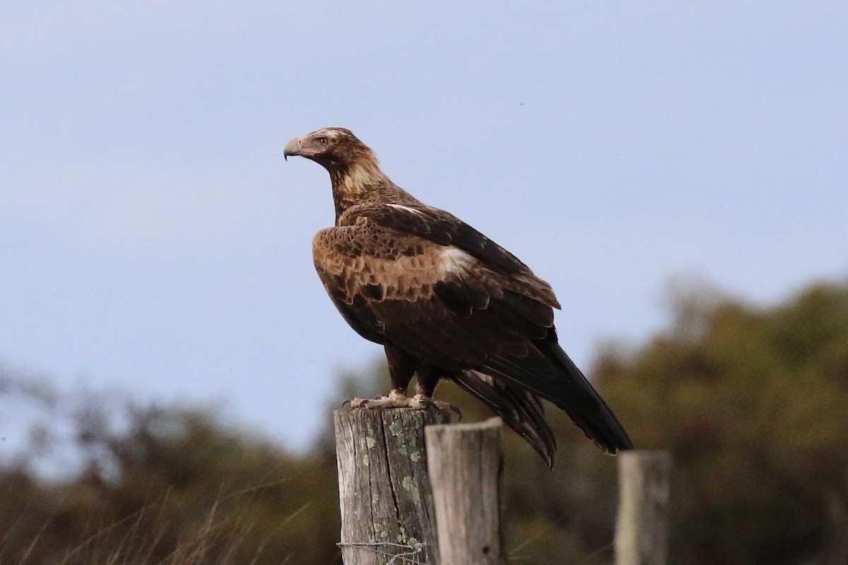
[[449, 423], [449, 411], [336, 410], [333, 420], [345, 565], [436, 565], [424, 426]]

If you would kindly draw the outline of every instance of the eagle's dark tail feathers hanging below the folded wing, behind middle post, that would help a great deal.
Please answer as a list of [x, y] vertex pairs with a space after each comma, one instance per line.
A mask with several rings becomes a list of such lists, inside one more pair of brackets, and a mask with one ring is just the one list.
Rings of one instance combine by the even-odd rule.
[[542, 399], [503, 379], [493, 379], [478, 371], [454, 375], [455, 382], [488, 404], [504, 422], [538, 451], [554, 468], [556, 439], [544, 419]]

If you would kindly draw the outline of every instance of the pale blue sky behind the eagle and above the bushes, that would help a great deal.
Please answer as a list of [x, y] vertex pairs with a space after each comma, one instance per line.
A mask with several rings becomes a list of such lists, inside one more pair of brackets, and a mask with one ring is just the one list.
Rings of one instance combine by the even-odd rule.
[[843, 2], [6, 2], [0, 363], [307, 445], [381, 351], [312, 267], [326, 173], [282, 160], [330, 125], [549, 280], [584, 367], [661, 327], [670, 278], [844, 278], [846, 29]]

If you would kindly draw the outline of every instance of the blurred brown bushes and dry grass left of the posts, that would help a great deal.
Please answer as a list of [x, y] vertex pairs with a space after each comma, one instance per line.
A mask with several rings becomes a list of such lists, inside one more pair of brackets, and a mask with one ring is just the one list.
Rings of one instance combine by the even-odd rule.
[[332, 458], [293, 455], [211, 413], [89, 403], [81, 474], [0, 469], [0, 562], [312, 564], [338, 561]]

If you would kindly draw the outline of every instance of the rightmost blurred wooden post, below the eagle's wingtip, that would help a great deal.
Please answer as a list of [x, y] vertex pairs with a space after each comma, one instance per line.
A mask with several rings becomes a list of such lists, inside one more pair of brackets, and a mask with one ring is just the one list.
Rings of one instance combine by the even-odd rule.
[[665, 565], [671, 468], [668, 451], [618, 454], [616, 565]]

